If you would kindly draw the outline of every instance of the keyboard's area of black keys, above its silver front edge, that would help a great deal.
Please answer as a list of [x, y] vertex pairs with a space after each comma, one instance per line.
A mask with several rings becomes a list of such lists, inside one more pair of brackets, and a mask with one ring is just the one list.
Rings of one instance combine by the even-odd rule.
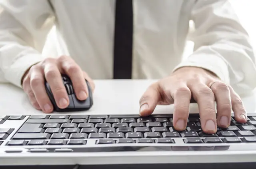
[[190, 115], [185, 131], [174, 129], [172, 114], [0, 116], [0, 124], [5, 121], [22, 123], [18, 128], [0, 127], [0, 147], [256, 143], [256, 116], [248, 116], [247, 123], [232, 118], [228, 128], [218, 128], [214, 134], [202, 131], [198, 114]]

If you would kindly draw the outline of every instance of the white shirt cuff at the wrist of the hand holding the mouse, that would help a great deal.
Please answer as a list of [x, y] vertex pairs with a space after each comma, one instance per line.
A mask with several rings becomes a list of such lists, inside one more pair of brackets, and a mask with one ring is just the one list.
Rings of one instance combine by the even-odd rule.
[[6, 70], [5, 79], [10, 83], [22, 87], [21, 80], [24, 73], [34, 64], [41, 62], [43, 57], [40, 54], [29, 54], [22, 56]]

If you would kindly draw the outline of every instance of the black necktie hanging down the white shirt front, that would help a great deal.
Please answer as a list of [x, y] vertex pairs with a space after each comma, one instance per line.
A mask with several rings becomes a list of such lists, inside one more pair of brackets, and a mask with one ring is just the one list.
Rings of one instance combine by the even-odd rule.
[[114, 79], [132, 78], [132, 0], [116, 0]]

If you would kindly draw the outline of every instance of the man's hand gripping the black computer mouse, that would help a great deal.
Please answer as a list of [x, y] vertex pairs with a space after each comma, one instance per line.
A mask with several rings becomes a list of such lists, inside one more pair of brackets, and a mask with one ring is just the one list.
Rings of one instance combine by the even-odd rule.
[[60, 108], [69, 105], [68, 94], [63, 85], [61, 74], [70, 77], [74, 91], [79, 100], [88, 97], [88, 88], [85, 79], [90, 83], [92, 91], [95, 85], [93, 80], [83, 72], [78, 64], [68, 56], [59, 58], [46, 58], [33, 65], [23, 76], [22, 87], [28, 95], [32, 105], [45, 113], [53, 111], [53, 105], [46, 93], [45, 80], [50, 84], [54, 99]]

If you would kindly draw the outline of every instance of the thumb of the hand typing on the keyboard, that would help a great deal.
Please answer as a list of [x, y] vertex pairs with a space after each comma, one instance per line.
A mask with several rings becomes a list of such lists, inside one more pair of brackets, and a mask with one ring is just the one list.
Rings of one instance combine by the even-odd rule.
[[153, 84], [144, 92], [140, 98], [140, 115], [148, 116], [153, 113], [156, 105], [160, 101], [158, 84]]

